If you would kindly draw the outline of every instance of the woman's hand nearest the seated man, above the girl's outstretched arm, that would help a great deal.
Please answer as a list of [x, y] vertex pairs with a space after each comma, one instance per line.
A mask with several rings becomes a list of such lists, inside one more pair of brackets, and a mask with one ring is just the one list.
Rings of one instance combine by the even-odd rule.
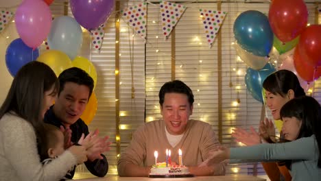
[[233, 138], [235, 141], [241, 142], [247, 146], [257, 145], [261, 143], [261, 137], [254, 128], [250, 127], [250, 132], [243, 130], [242, 128], [235, 128], [232, 133]]

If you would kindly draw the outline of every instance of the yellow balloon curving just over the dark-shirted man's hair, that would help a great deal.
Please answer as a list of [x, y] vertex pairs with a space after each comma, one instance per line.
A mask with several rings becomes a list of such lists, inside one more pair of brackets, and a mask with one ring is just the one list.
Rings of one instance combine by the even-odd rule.
[[95, 86], [97, 83], [97, 71], [93, 63], [84, 57], [78, 56], [73, 60], [72, 64], [73, 64], [73, 67], [78, 67], [86, 71], [86, 73], [88, 73], [88, 75], [90, 75], [93, 78], [94, 89], [95, 89]]

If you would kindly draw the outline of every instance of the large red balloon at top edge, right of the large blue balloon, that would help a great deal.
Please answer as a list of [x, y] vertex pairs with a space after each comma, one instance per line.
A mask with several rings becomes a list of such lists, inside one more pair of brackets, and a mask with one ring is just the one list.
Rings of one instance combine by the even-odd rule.
[[288, 42], [307, 26], [308, 11], [303, 0], [274, 0], [270, 5], [269, 21], [275, 36]]

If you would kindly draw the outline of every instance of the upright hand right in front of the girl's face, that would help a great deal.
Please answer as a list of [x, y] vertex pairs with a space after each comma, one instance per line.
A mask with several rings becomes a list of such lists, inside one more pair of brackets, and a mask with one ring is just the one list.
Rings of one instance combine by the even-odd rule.
[[260, 127], [259, 127], [260, 136], [266, 141], [269, 142], [269, 140], [272, 140], [275, 142], [275, 128], [273, 121], [268, 118], [265, 118], [264, 121], [260, 121]]

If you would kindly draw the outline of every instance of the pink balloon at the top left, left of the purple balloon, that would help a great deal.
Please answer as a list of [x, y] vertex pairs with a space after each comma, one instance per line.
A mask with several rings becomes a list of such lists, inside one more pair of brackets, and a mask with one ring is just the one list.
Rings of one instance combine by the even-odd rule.
[[43, 0], [23, 1], [16, 9], [14, 20], [25, 45], [35, 49], [49, 34], [51, 11]]

